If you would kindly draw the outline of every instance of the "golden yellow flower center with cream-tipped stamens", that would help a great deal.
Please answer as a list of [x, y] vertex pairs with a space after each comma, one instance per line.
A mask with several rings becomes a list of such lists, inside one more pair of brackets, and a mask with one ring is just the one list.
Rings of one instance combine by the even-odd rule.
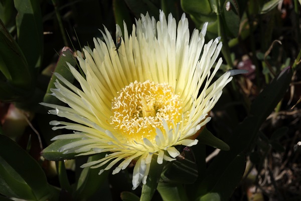
[[134, 81], [118, 94], [112, 103], [111, 124], [128, 142], [143, 138], [155, 142], [156, 128], [164, 131], [163, 119], [169, 128], [182, 123], [182, 100], [166, 83]]

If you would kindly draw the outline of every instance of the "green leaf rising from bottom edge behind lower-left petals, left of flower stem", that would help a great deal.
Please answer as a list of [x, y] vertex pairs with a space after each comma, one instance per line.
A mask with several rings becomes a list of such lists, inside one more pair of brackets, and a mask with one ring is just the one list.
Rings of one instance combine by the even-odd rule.
[[[106, 153], [100, 153], [88, 158], [88, 162], [97, 161], [104, 158]], [[74, 192], [74, 197], [78, 200], [89, 200], [89, 198], [94, 195], [94, 193], [99, 190], [103, 185], [103, 182], [107, 179], [110, 171], [104, 171], [98, 175], [100, 168], [83, 168], [80, 177], [78, 179], [76, 191]]]

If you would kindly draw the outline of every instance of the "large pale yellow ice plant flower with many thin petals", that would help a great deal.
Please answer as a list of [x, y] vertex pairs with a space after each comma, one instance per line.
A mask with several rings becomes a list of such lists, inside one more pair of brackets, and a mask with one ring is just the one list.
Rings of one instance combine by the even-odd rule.
[[[116, 27], [118, 38], [121, 30]], [[206, 28], [194, 30], [190, 39], [185, 14], [178, 26], [171, 14], [166, 21], [160, 12], [159, 22], [141, 15], [130, 36], [124, 24], [118, 54], [116, 39], [105, 28], [105, 42], [94, 39], [95, 49], [85, 47], [85, 58], [78, 54], [85, 77], [68, 64], [80, 88], [55, 73], [53, 95], [69, 107], [42, 103], [54, 109], [50, 114], [74, 122], [50, 122], [53, 130], [74, 131], [52, 139], [75, 139], [59, 151], [107, 152], [103, 159], [82, 165], [104, 166], [99, 174], [117, 163], [115, 174], [134, 160], [136, 188], [145, 184], [154, 155], [161, 164], [180, 154], [175, 146], [197, 144], [194, 134], [210, 121], [208, 113], [232, 79], [226, 72], [212, 82], [222, 63], [221, 58], [216, 62], [222, 43], [217, 38], [204, 45]]]

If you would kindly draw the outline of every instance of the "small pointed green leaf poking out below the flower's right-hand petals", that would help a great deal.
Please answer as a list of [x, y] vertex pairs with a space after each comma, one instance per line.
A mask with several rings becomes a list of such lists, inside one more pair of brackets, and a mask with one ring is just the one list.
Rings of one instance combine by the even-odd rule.
[[222, 140], [215, 137], [206, 127], [203, 129], [201, 134], [197, 138], [199, 140], [199, 143], [206, 144], [215, 148], [218, 148], [220, 150], [228, 151], [230, 150], [229, 145], [227, 145]]

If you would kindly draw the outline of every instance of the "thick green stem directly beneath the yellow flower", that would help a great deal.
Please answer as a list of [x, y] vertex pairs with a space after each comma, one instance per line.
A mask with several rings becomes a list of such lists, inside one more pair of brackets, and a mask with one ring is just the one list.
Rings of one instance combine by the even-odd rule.
[[146, 184], [142, 186], [140, 201], [150, 201], [157, 189], [161, 173], [166, 161], [163, 160], [162, 164], [158, 164], [157, 156], [153, 156], [150, 163], [149, 173], [146, 179]]

